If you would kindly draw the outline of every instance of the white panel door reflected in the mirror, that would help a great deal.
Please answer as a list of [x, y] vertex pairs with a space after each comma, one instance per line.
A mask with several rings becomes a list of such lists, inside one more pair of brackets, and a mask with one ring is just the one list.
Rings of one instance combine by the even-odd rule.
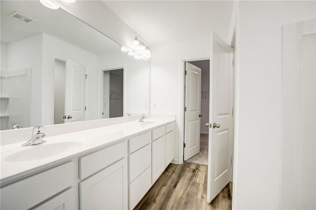
[[65, 123], [85, 120], [85, 67], [67, 59]]

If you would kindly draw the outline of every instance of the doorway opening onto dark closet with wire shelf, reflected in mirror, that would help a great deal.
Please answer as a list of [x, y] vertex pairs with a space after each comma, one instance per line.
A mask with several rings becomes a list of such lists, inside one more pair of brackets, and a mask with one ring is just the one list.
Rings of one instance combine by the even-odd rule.
[[102, 118], [123, 116], [123, 69], [103, 70]]

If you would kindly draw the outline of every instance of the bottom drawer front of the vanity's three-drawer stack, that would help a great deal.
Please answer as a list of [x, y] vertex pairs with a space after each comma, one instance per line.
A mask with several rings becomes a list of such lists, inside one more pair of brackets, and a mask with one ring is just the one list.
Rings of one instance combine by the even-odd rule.
[[129, 184], [129, 209], [136, 207], [138, 202], [144, 197], [147, 191], [151, 188], [151, 167], [146, 169], [132, 183]]

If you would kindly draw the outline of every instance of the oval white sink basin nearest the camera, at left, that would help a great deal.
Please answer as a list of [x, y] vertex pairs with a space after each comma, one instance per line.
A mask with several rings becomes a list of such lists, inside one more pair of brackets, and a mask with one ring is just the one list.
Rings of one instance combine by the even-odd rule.
[[82, 146], [82, 143], [76, 141], [61, 141], [55, 143], [42, 143], [33, 146], [23, 147], [21, 151], [13, 153], [4, 158], [7, 162], [22, 162], [38, 160], [60, 155], [71, 149]]

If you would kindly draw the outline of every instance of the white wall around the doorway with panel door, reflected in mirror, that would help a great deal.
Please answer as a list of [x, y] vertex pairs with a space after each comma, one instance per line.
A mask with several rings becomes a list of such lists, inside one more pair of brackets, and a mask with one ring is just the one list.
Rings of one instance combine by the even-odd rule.
[[42, 125], [53, 124], [53, 103], [51, 97], [52, 91], [52, 63], [53, 56], [58, 56], [66, 61], [70, 58], [86, 67], [88, 79], [86, 83], [86, 120], [98, 119], [97, 114], [97, 92], [98, 92], [98, 56], [83, 50], [68, 42], [57, 39], [53, 36], [43, 34], [43, 60], [42, 60]]

